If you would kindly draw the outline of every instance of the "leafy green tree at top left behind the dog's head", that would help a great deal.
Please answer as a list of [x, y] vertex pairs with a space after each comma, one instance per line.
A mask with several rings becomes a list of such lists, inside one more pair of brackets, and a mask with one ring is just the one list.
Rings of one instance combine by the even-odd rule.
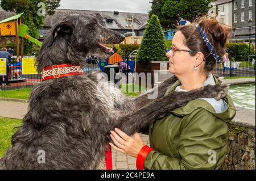
[[[60, 0], [2, 0], [1, 7], [5, 11], [19, 14], [24, 12], [23, 23], [30, 28], [30, 36], [38, 38], [38, 30], [44, 23], [46, 15], [53, 15], [60, 6]], [[45, 12], [45, 13], [44, 13]], [[24, 54], [30, 55], [33, 44], [24, 40]]]

